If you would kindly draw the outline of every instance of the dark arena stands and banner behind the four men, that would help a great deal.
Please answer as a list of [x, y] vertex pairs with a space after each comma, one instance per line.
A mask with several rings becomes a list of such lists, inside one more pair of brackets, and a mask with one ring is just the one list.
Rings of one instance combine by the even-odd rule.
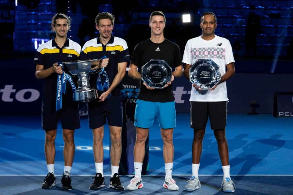
[[[257, 112], [272, 113], [273, 95], [293, 91], [292, 0], [2, 0], [0, 3], [0, 114], [40, 113], [42, 94], [36, 94], [35, 90], [41, 93], [42, 80], [35, 78], [32, 61], [36, 48], [54, 37], [50, 23], [56, 12], [72, 18], [68, 37], [81, 47], [98, 34], [96, 15], [113, 13], [116, 18], [113, 34], [126, 40], [131, 55], [137, 43], [150, 37], [148, 22], [154, 10], [164, 12], [164, 36], [178, 44], [182, 54], [187, 40], [201, 34], [201, 14], [212, 11], [217, 15], [215, 34], [230, 41], [236, 60], [236, 74], [227, 82], [229, 113], [251, 112], [250, 102], [255, 100], [259, 104]], [[191, 22], [183, 23], [182, 14], [190, 14]], [[133, 81], [125, 78], [124, 82]], [[13, 90], [5, 92], [11, 85]], [[190, 83], [183, 76], [176, 78], [173, 85], [177, 112], [189, 112]]]

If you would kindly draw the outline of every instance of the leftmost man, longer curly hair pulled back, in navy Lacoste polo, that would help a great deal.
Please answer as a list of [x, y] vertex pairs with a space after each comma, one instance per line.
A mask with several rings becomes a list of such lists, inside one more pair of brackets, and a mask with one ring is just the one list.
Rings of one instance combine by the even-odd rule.
[[55, 14], [52, 17], [51, 28], [56, 33], [56, 36], [52, 40], [40, 45], [34, 58], [36, 77], [38, 79], [44, 79], [42, 128], [45, 130], [45, 157], [49, 173], [42, 184], [42, 188], [51, 188], [56, 183], [54, 173], [55, 138], [57, 124], [59, 119], [61, 119], [65, 164], [61, 179], [61, 189], [72, 190], [70, 171], [75, 149], [74, 129], [79, 129], [80, 123], [78, 103], [73, 102], [70, 83], [66, 85], [66, 94], [63, 95], [63, 98], [59, 99], [62, 108], [59, 110], [56, 109], [56, 102], [58, 101], [56, 97], [57, 76], [63, 73], [61, 66], [58, 66], [57, 62], [77, 60], [81, 52], [80, 45], [67, 38], [70, 25], [71, 19], [67, 15], [63, 13]]

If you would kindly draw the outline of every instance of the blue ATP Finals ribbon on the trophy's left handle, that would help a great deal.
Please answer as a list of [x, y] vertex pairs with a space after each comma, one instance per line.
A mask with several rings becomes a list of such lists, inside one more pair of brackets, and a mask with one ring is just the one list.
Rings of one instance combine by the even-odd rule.
[[[62, 62], [57, 62], [58, 66], [61, 66], [63, 69]], [[66, 81], [69, 81], [72, 90], [75, 91], [76, 87], [71, 78], [71, 76], [63, 71], [62, 74], [57, 76], [57, 93], [56, 93], [56, 111], [62, 108], [62, 94], [65, 94], [66, 91]]]

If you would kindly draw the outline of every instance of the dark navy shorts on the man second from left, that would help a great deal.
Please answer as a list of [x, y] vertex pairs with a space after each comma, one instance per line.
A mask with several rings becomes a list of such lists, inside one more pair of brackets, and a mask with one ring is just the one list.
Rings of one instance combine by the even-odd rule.
[[89, 128], [96, 129], [106, 124], [106, 117], [108, 125], [122, 127], [123, 113], [122, 113], [123, 97], [121, 94], [111, 96], [103, 102], [89, 102]]

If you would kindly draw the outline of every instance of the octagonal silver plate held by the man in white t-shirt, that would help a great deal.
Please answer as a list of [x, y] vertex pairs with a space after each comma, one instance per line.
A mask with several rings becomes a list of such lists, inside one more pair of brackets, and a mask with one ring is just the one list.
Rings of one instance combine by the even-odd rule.
[[199, 89], [211, 89], [221, 80], [220, 66], [211, 59], [198, 59], [189, 69], [189, 78]]

